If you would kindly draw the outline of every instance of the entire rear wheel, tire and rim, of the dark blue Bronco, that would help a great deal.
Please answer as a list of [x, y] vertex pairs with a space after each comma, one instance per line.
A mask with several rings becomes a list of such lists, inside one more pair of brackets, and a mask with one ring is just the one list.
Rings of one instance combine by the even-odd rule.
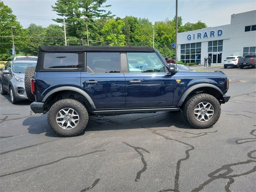
[[48, 113], [50, 127], [63, 137], [80, 134], [85, 129], [88, 118], [85, 106], [74, 99], [58, 100]]

